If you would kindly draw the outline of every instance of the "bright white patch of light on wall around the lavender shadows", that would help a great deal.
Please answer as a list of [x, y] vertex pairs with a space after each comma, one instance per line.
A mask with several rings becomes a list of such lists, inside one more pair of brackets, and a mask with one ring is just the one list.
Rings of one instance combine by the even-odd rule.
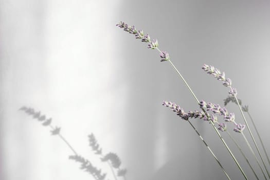
[[[3, 179], [91, 178], [68, 160], [73, 152], [60, 138], [50, 136], [50, 129], [17, 113], [22, 105], [52, 117], [53, 125], [61, 127], [63, 136], [82, 155], [88, 156], [91, 151], [87, 135], [92, 132], [105, 153], [121, 152], [126, 87], [116, 73], [120, 65], [115, 51], [119, 46], [113, 30], [119, 20], [115, 17], [119, 3], [81, 0], [5, 4], [2, 12], [9, 21], [2, 21], [0, 35], [12, 39], [3, 41], [0, 47], [8, 47], [10, 55], [3, 61], [10, 64], [5, 65], [3, 74], [8, 91], [2, 96], [9, 101], [3, 101], [2, 106]], [[112, 179], [110, 175], [107, 178]]]

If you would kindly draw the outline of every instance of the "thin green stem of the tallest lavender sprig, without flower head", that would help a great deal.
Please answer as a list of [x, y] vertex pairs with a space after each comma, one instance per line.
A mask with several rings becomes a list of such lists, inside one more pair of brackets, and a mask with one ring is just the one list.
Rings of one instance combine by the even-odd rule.
[[[156, 48], [160, 53], [161, 51]], [[177, 68], [173, 65], [173, 63], [171, 62], [171, 60], [168, 60], [169, 63], [171, 64], [171, 66], [174, 68], [174, 70], [176, 71], [176, 73], [178, 74], [178, 76], [183, 80], [184, 84], [187, 86], [187, 88], [189, 89], [189, 92], [191, 93], [191, 95], [193, 96], [193, 98], [197, 101], [197, 103], [200, 103], [200, 101], [197, 99], [197, 97], [195, 96], [195, 94], [193, 93], [193, 91], [191, 90], [191, 88], [189, 87], [188, 83], [186, 82], [186, 80], [184, 79], [184, 77], [179, 73], [179, 71], [177, 70]], [[225, 140], [222, 138], [221, 134], [219, 133], [218, 129], [215, 127], [215, 125], [213, 124], [213, 122], [210, 120], [210, 117], [207, 115], [206, 111], [202, 108], [203, 112], [205, 113], [208, 121], [211, 123], [212, 127], [214, 128], [215, 132], [218, 134], [219, 138], [221, 139], [221, 141], [223, 142], [224, 146], [226, 147], [226, 149], [228, 150], [229, 154], [231, 155], [232, 159], [235, 161], [236, 165], [238, 166], [239, 170], [241, 171], [241, 173], [243, 174], [243, 176], [245, 177], [245, 179], [247, 179], [246, 174], [244, 173], [243, 169], [241, 168], [241, 166], [239, 165], [236, 157], [232, 154], [231, 150], [229, 149], [229, 147], [227, 146], [227, 143], [225, 142]]]

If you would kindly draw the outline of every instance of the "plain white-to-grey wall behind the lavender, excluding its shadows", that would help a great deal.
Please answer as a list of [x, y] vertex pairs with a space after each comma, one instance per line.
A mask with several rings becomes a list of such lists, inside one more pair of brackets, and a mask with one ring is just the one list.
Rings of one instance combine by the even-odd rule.
[[[228, 89], [201, 66], [225, 71], [270, 153], [269, 19], [269, 1], [1, 0], [0, 179], [92, 178], [59, 137], [17, 111], [23, 105], [52, 117], [76, 151], [108, 173], [88, 146], [90, 133], [104, 153], [120, 156], [128, 180], [226, 179], [190, 125], [161, 106], [197, 109], [182, 81], [119, 21], [157, 38], [199, 99], [223, 104]], [[235, 104], [228, 110], [243, 122]], [[230, 176], [243, 179], [210, 125], [192, 122]]]

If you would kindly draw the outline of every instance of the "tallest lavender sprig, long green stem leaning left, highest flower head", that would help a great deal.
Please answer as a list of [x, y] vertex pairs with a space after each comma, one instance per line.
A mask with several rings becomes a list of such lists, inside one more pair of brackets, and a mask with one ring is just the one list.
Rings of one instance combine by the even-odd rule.
[[[148, 44], [148, 48], [150, 49], [157, 49], [160, 52], [160, 58], [161, 61], [168, 61], [170, 63], [170, 65], [173, 67], [173, 69], [176, 71], [176, 73], [178, 74], [178, 76], [182, 79], [182, 81], [184, 82], [184, 84], [186, 85], [186, 87], [189, 89], [189, 92], [191, 93], [191, 95], [193, 96], [193, 98], [195, 99], [195, 101], [199, 104], [200, 101], [197, 99], [197, 97], [195, 96], [195, 94], [193, 93], [192, 89], [190, 88], [190, 86], [188, 85], [188, 83], [186, 82], [186, 80], [184, 79], [184, 77], [179, 73], [179, 71], [177, 70], [177, 68], [173, 65], [173, 63], [170, 60], [169, 57], [169, 53], [166, 51], [161, 51], [158, 49], [158, 42], [157, 40], [152, 40], [150, 39], [149, 34], [145, 34], [143, 33], [143, 30], [136, 30], [135, 26], [129, 26], [128, 24], [124, 23], [124, 22], [119, 22], [116, 26], [123, 28], [124, 31], [127, 31], [131, 34], [135, 35], [136, 39], [141, 39], [142, 42], [147, 42]], [[229, 83], [229, 82], [228, 82]], [[212, 125], [212, 128], [215, 130], [215, 132], [217, 133], [217, 135], [219, 136], [219, 138], [221, 139], [221, 141], [223, 142], [223, 145], [225, 146], [225, 148], [227, 149], [227, 151], [229, 152], [229, 154], [231, 155], [232, 159], [235, 161], [237, 167], [239, 168], [239, 170], [241, 171], [242, 175], [244, 176], [245, 179], [248, 179], [246, 174], [244, 173], [242, 167], [240, 166], [240, 164], [238, 163], [236, 157], [233, 155], [233, 153], [231, 152], [231, 150], [229, 149], [229, 147], [227, 146], [227, 143], [225, 142], [225, 140], [223, 139], [223, 137], [221, 136], [221, 134], [219, 133], [218, 129], [215, 127], [214, 123], [211, 121], [210, 116], [207, 115], [206, 110], [204, 109], [204, 107], [201, 107], [202, 111], [206, 114], [206, 118], [208, 119], [208, 121], [210, 122], [210, 124]]]

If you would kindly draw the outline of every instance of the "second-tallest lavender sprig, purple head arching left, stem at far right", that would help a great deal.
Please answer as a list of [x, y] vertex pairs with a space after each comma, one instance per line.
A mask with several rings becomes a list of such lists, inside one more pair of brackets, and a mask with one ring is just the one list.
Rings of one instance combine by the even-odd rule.
[[[254, 145], [255, 145], [255, 147], [256, 147], [257, 152], [259, 153], [260, 159], [261, 159], [261, 161], [262, 161], [262, 163], [263, 163], [263, 166], [264, 166], [264, 168], [265, 168], [265, 170], [266, 170], [266, 173], [267, 173], [267, 175], [268, 175], [268, 178], [270, 179], [270, 174], [269, 174], [268, 169], [267, 169], [267, 167], [266, 167], [266, 165], [265, 165], [265, 163], [264, 163], [264, 160], [263, 160], [263, 157], [262, 157], [261, 152], [260, 152], [260, 150], [259, 150], [259, 147], [258, 147], [258, 145], [257, 145], [257, 142], [256, 142], [256, 140], [255, 140], [255, 138], [254, 138], [253, 133], [251, 132], [251, 130], [250, 130], [250, 128], [249, 128], [248, 122], [247, 122], [247, 120], [246, 120], [246, 118], [245, 118], [245, 115], [244, 115], [244, 113], [243, 113], [243, 110], [248, 111], [248, 110], [247, 110], [248, 107], [247, 107], [247, 106], [245, 106], [245, 107], [241, 106], [241, 104], [240, 104], [240, 102], [239, 102], [239, 100], [238, 100], [238, 98], [237, 98], [237, 95], [238, 95], [237, 89], [236, 89], [235, 87], [232, 87], [232, 86], [231, 86], [231, 84], [232, 84], [231, 80], [230, 80], [229, 78], [225, 79], [225, 73], [223, 72], [223, 73], [221, 74], [221, 71], [220, 71], [218, 68], [215, 68], [214, 66], [211, 66], [211, 65], [204, 64], [204, 65], [202, 66], [202, 69], [204, 69], [204, 70], [207, 72], [207, 74], [210, 74], [210, 75], [214, 76], [215, 78], [217, 78], [218, 80], [223, 81], [223, 85], [230, 88], [228, 93], [229, 93], [229, 95], [230, 95], [231, 97], [235, 98], [235, 101], [236, 101], [236, 103], [237, 103], [237, 105], [238, 105], [238, 107], [239, 107], [239, 110], [240, 110], [240, 112], [241, 112], [241, 115], [242, 115], [242, 117], [243, 117], [243, 119], [244, 119], [244, 122], [245, 122], [245, 124], [246, 124], [247, 129], [248, 129], [248, 132], [249, 132], [249, 134], [250, 134], [250, 137], [251, 137], [251, 139], [252, 139], [253, 142], [254, 142]], [[253, 124], [254, 124], [254, 123], [253, 123]], [[243, 133], [242, 133], [242, 134], [243, 134]], [[258, 131], [257, 131], [257, 134], [259, 134]], [[244, 136], [244, 134], [243, 134], [243, 136]], [[258, 161], [258, 159], [257, 159], [257, 156], [255, 155], [253, 149], [252, 149], [251, 146], [249, 145], [249, 142], [247, 141], [247, 139], [246, 139], [245, 136], [244, 136], [244, 139], [245, 139], [245, 141], [246, 141], [246, 143], [247, 143], [247, 146], [249, 147], [250, 151], [251, 151], [251, 152], [254, 154], [254, 156], [256, 157], [257, 163], [259, 164], [259, 161]], [[262, 142], [262, 141], [261, 141], [261, 142]], [[262, 143], [262, 146], [263, 146], [263, 143]], [[268, 155], [267, 155], [266, 151], [265, 151], [265, 155], [266, 155], [266, 157], [267, 157], [267, 159], [268, 159], [268, 163], [269, 163], [269, 165], [270, 165], [270, 161], [269, 161], [269, 158], [268, 158]], [[259, 166], [260, 166], [260, 165], [259, 165]], [[261, 167], [260, 167], [260, 168], [261, 168]], [[261, 168], [261, 170], [262, 170], [262, 168]], [[263, 174], [264, 174], [264, 173], [263, 173]], [[265, 179], [266, 179], [266, 177], [265, 177]]]

